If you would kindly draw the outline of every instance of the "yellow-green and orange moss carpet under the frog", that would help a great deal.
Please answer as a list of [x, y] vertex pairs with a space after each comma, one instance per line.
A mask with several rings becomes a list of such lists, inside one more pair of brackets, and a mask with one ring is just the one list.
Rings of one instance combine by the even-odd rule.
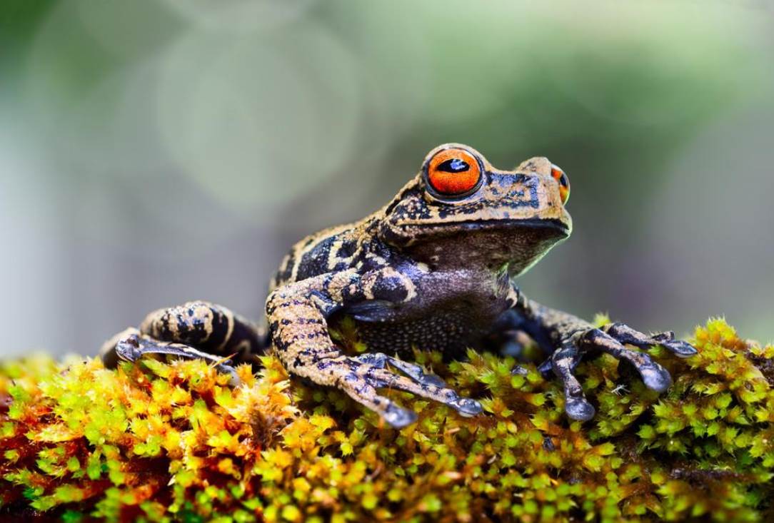
[[697, 357], [657, 359], [656, 395], [610, 357], [579, 367], [598, 403], [568, 422], [529, 364], [416, 359], [486, 415], [389, 392], [419, 414], [396, 431], [339, 391], [293, 382], [273, 357], [244, 385], [201, 361], [47, 357], [0, 371], [0, 515], [146, 521], [762, 521], [774, 517], [774, 347], [723, 320]]

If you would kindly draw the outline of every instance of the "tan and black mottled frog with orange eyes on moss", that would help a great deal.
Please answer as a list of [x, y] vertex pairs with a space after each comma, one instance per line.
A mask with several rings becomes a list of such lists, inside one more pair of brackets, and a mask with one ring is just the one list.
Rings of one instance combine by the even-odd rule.
[[[269, 282], [264, 322], [206, 301], [184, 303], [108, 340], [103, 360], [115, 367], [149, 354], [204, 359], [236, 385], [235, 364], [273, 351], [289, 376], [344, 391], [401, 429], [416, 422], [416, 412], [385, 390], [462, 416], [482, 412], [477, 399], [409, 361], [413, 350], [454, 360], [467, 350], [503, 350], [526, 334], [543, 351], [543, 378], [561, 383], [567, 417], [590, 420], [595, 408], [575, 375], [584, 358], [609, 354], [663, 392], [672, 378], [647, 350], [665, 347], [677, 357], [697, 350], [671, 331], [595, 326], [519, 289], [519, 275], [570, 237], [569, 196], [567, 174], [545, 157], [497, 169], [467, 145], [439, 145], [384, 207], [290, 248]], [[345, 350], [334, 337], [344, 322], [368, 351]], [[524, 371], [517, 363], [512, 372]]]

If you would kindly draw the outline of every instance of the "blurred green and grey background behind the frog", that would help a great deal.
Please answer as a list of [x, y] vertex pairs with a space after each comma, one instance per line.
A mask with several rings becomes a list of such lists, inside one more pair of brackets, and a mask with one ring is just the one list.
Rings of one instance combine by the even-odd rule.
[[451, 141], [570, 176], [529, 296], [774, 338], [768, 2], [3, 0], [0, 355], [259, 317], [290, 244]]

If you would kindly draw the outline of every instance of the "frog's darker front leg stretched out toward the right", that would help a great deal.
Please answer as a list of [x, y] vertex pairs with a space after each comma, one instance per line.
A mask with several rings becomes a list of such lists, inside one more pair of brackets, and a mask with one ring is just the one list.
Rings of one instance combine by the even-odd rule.
[[577, 316], [542, 306], [526, 299], [518, 289], [512, 289], [514, 325], [526, 331], [538, 344], [550, 352], [550, 357], [539, 370], [544, 376], [557, 375], [564, 385], [567, 415], [572, 419], [587, 420], [594, 417], [594, 407], [584, 397], [583, 388], [574, 376], [575, 367], [586, 354], [604, 352], [618, 360], [625, 360], [642, 376], [645, 385], [663, 392], [672, 385], [670, 373], [648, 354], [631, 350], [625, 344], [647, 349], [662, 345], [678, 357], [690, 357], [697, 350], [682, 340], [675, 340], [674, 333], [647, 335], [623, 323], [608, 323], [596, 328]]

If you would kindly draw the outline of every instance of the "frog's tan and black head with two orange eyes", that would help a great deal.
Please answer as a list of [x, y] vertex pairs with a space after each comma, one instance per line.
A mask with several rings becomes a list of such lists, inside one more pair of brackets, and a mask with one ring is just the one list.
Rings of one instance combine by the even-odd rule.
[[570, 235], [569, 196], [567, 175], [546, 158], [505, 171], [449, 143], [385, 207], [379, 237], [433, 266], [507, 264], [516, 275]]

